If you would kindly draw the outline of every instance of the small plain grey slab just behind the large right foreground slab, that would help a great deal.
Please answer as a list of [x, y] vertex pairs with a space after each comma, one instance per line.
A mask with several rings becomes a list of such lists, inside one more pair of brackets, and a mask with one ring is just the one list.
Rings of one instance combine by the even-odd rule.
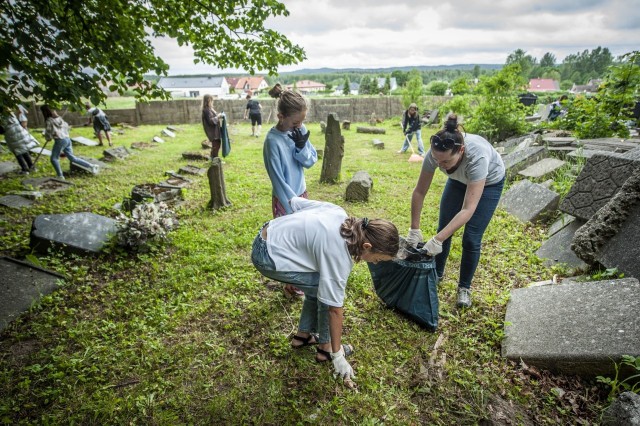
[[571, 250], [573, 236], [583, 223], [584, 222], [581, 221], [569, 222], [565, 227], [542, 243], [542, 246], [536, 251], [536, 255], [540, 259], [544, 259], [545, 266], [562, 264], [571, 268], [573, 274], [585, 272], [589, 269], [589, 265], [576, 256]]

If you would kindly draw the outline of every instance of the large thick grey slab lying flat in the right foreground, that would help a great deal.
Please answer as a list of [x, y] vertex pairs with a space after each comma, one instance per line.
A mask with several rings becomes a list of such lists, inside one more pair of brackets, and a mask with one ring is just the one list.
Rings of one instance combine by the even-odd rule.
[[638, 312], [635, 278], [515, 289], [502, 356], [563, 374], [611, 375], [622, 355], [640, 355]]

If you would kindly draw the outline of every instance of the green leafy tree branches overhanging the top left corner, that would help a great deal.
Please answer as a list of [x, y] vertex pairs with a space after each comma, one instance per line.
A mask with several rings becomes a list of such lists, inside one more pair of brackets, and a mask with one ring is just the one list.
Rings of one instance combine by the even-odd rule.
[[22, 98], [80, 106], [104, 100], [101, 89], [142, 100], [168, 94], [144, 75], [167, 75], [151, 37], [193, 48], [195, 62], [275, 74], [305, 58], [304, 50], [264, 21], [287, 16], [277, 0], [8, 0], [0, 3], [0, 104]]

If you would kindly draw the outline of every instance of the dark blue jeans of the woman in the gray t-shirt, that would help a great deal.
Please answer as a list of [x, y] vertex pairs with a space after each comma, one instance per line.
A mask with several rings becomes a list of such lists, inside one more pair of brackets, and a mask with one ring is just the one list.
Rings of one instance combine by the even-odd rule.
[[[473, 275], [480, 261], [480, 249], [482, 236], [498, 207], [504, 178], [493, 185], [487, 185], [482, 191], [476, 211], [464, 226], [462, 234], [462, 259], [460, 261], [460, 287], [470, 288]], [[451, 222], [453, 217], [462, 209], [462, 203], [467, 191], [467, 185], [457, 180], [449, 179], [444, 187], [440, 199], [440, 220], [438, 232]], [[451, 250], [451, 237], [442, 242], [442, 253], [436, 256], [436, 273], [441, 278], [444, 275], [444, 267]]]

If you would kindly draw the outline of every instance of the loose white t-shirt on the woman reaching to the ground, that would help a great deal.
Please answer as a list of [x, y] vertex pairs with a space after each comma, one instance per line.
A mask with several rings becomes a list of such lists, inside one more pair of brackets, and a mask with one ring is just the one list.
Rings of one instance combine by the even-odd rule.
[[293, 213], [273, 219], [267, 250], [277, 271], [320, 274], [318, 300], [341, 307], [353, 259], [340, 236], [348, 217], [339, 206], [300, 197], [291, 199]]

